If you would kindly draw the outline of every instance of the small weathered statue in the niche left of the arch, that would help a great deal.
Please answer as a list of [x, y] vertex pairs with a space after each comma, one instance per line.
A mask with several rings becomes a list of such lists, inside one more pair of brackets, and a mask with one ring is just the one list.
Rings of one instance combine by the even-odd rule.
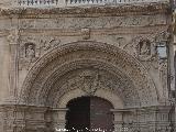
[[35, 58], [35, 45], [32, 43], [29, 43], [25, 45], [25, 57], [29, 59], [30, 63], [32, 63]]

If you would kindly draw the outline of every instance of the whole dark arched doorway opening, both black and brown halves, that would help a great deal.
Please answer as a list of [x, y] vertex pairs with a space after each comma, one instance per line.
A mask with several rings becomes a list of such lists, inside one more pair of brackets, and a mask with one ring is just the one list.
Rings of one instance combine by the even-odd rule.
[[67, 103], [66, 129], [72, 132], [112, 132], [112, 105], [98, 97], [80, 97]]

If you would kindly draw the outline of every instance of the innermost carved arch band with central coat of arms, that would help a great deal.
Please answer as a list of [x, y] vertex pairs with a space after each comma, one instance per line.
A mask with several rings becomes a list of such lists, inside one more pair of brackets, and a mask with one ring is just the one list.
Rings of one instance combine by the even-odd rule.
[[[118, 97], [121, 97], [125, 107], [140, 105], [140, 98], [132, 80], [121, 74], [122, 73], [112, 75], [102, 69], [94, 69], [92, 67], [89, 69], [77, 69], [69, 72], [65, 76], [56, 77], [52, 86], [44, 86], [43, 90], [38, 92], [38, 101], [44, 101], [43, 103], [53, 106], [54, 103], [57, 103], [59, 98], [69, 90], [79, 88], [84, 90], [86, 95], [94, 96], [97, 89], [101, 88], [109, 90], [110, 92], [113, 91], [113, 94]], [[87, 81], [86, 85], [85, 77], [86, 81], [87, 79], [91, 79], [90, 81]]]

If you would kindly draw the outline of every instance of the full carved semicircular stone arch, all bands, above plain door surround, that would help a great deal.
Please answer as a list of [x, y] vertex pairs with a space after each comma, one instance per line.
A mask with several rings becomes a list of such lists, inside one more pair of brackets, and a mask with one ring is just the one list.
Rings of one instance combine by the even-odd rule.
[[21, 99], [53, 106], [76, 88], [89, 96], [99, 88], [109, 90], [125, 107], [157, 103], [154, 82], [142, 64], [124, 51], [98, 42], [75, 42], [45, 54], [29, 72]]

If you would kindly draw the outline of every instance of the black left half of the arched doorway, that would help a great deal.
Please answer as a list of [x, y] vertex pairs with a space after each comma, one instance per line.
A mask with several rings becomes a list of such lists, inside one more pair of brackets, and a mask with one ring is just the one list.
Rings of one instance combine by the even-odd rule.
[[90, 98], [77, 98], [72, 100], [67, 108], [66, 129], [69, 132], [89, 132], [90, 128]]

